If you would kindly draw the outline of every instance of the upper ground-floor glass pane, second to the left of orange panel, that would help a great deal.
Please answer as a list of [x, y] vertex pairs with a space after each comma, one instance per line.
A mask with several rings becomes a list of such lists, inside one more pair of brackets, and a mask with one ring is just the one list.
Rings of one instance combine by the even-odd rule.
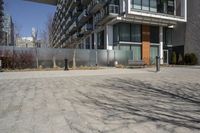
[[120, 41], [130, 42], [130, 24], [120, 23]]

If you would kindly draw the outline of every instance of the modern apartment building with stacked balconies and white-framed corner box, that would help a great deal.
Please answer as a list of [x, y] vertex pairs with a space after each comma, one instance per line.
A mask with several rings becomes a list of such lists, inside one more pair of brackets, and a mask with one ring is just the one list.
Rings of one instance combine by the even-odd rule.
[[184, 44], [178, 29], [187, 22], [187, 0], [35, 0], [57, 5], [55, 48], [132, 50], [150, 64], [168, 63], [173, 43]]

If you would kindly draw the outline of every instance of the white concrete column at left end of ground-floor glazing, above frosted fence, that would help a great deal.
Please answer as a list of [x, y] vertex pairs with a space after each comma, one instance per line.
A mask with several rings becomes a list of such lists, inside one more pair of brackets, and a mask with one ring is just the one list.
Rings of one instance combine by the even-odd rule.
[[113, 50], [113, 26], [107, 25], [105, 30], [105, 43], [107, 50]]

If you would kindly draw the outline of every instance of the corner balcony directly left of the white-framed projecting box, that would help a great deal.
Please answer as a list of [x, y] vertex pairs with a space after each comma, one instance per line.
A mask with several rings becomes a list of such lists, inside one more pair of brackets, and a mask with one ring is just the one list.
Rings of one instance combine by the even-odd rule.
[[119, 5], [110, 4], [95, 16], [95, 24], [103, 25], [119, 15]]

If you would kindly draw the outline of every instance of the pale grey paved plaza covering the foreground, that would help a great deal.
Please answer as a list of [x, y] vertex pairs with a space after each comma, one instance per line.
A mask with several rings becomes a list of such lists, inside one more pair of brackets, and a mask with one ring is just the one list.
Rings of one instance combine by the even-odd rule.
[[0, 73], [0, 133], [199, 132], [199, 69]]

